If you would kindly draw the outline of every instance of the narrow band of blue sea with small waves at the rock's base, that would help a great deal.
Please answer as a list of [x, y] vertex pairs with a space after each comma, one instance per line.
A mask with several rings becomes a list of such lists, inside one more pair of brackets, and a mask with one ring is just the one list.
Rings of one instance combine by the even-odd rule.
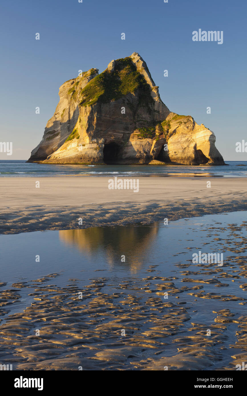
[[228, 166], [184, 165], [54, 165], [0, 160], [0, 177], [49, 176], [191, 176], [247, 177], [247, 161], [228, 161]]

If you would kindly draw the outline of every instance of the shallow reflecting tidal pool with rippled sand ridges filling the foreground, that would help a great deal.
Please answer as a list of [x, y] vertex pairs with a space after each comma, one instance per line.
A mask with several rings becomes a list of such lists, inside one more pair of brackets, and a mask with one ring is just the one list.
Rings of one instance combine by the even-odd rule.
[[[236, 369], [247, 350], [245, 219], [1, 235], [2, 363]], [[223, 265], [193, 263], [199, 251]]]

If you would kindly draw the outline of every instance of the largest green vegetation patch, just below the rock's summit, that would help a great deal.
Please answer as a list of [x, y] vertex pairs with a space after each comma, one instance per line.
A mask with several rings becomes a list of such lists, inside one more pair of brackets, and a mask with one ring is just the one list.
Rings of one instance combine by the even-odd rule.
[[140, 90], [140, 104], [153, 102], [150, 86], [136, 70], [130, 57], [117, 59], [113, 71], [105, 70], [82, 89], [80, 105], [86, 107], [97, 101], [115, 101], [137, 89]]

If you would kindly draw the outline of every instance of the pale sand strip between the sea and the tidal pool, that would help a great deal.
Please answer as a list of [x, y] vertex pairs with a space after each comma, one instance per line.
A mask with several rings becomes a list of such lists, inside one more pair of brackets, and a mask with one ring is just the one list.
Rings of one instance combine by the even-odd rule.
[[149, 224], [247, 209], [246, 180], [240, 177], [138, 179], [135, 193], [109, 190], [108, 177], [1, 178], [0, 233]]

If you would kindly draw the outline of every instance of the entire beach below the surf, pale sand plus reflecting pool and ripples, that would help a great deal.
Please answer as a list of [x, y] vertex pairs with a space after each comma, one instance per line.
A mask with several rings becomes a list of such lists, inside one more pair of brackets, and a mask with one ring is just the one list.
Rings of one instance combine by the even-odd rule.
[[[136, 193], [110, 190], [108, 181], [0, 179], [2, 364], [63, 371], [241, 366], [246, 221], [230, 212], [247, 210], [245, 179], [140, 177]], [[172, 222], [188, 217], [198, 221]], [[31, 232], [38, 230], [50, 231]], [[224, 265], [193, 263], [199, 249], [224, 253]]]

